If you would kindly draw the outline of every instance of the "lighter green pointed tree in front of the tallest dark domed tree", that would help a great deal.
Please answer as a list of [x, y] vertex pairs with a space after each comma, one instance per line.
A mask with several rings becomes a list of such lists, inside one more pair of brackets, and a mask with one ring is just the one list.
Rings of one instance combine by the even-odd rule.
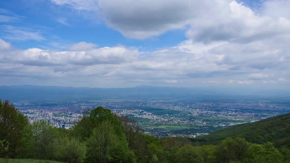
[[135, 162], [125, 136], [116, 134], [111, 121], [103, 121], [87, 141], [87, 161], [90, 163]]

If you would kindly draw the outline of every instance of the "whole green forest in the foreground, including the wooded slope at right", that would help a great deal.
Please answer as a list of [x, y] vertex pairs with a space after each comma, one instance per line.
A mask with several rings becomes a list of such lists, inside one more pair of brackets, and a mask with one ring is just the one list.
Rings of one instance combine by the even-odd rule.
[[290, 163], [290, 114], [208, 136], [157, 138], [110, 109], [84, 110], [71, 130], [29, 123], [0, 101], [0, 157], [64, 163]]

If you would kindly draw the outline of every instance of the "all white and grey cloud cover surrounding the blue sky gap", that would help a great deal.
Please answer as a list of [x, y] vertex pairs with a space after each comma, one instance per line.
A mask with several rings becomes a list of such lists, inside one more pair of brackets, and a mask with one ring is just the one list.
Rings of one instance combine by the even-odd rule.
[[275, 83], [289, 77], [290, 18], [284, 9], [271, 13], [288, 6], [287, 0], [266, 1], [255, 12], [235, 0], [52, 1], [76, 10], [97, 10], [109, 27], [129, 38], [183, 29], [187, 40], [146, 53], [122, 46], [96, 48], [87, 42], [73, 44], [67, 51], [15, 50], [0, 40], [0, 47], [8, 45], [4, 49], [9, 51], [0, 54], [1, 66], [5, 63], [10, 71], [23, 72], [14, 73], [19, 76], [34, 78], [41, 71], [63, 82], [83, 79], [83, 84], [94, 81], [90, 82], [94, 86], [115, 87], [142, 82], [181, 86]]

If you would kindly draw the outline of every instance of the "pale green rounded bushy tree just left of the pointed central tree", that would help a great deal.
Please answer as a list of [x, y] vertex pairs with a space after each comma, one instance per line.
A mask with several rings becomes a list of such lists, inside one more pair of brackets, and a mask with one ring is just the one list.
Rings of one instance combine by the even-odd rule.
[[59, 137], [54, 142], [54, 159], [66, 163], [83, 163], [87, 147], [78, 139], [67, 136]]

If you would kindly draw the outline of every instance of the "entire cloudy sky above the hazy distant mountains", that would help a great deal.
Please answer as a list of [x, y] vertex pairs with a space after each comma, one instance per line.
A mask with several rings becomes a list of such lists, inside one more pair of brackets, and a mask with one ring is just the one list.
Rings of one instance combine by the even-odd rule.
[[1, 0], [0, 85], [290, 88], [290, 0]]

